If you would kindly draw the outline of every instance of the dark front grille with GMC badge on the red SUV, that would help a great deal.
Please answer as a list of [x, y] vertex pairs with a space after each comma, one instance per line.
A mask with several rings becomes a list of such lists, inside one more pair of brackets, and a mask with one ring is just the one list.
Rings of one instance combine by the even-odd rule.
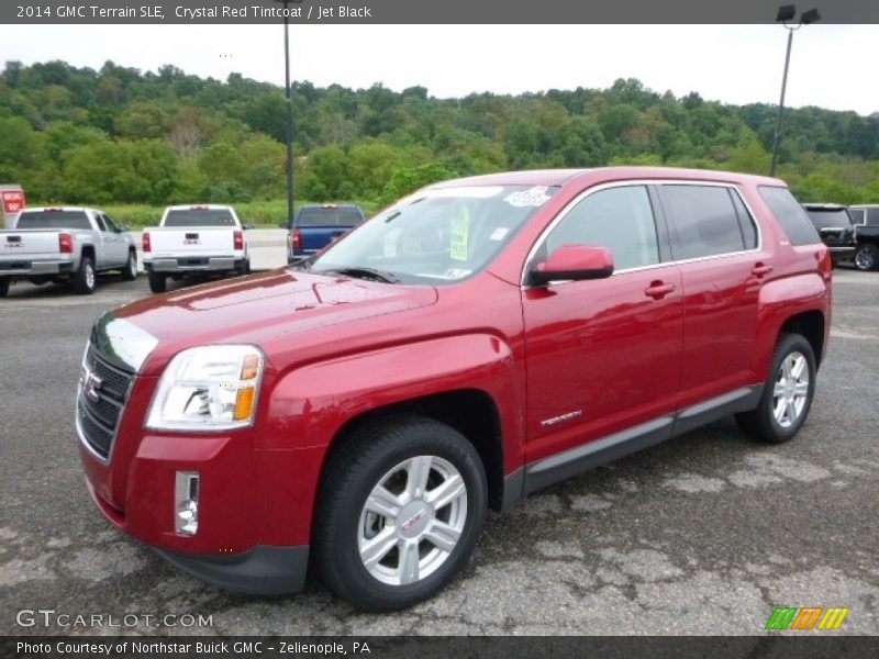
[[89, 447], [107, 459], [113, 446], [134, 373], [111, 365], [93, 345], [86, 351], [77, 415]]

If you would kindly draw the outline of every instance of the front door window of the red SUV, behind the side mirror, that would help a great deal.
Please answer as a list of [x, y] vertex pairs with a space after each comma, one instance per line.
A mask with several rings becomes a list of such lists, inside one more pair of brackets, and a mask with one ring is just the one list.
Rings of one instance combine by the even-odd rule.
[[658, 264], [659, 244], [647, 189], [624, 186], [583, 198], [549, 233], [541, 252], [545, 256], [569, 244], [608, 247], [616, 270]]

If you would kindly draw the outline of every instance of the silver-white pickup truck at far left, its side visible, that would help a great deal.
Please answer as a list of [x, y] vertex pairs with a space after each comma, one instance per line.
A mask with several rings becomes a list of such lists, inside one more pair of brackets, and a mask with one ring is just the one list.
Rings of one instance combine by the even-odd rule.
[[0, 298], [15, 280], [73, 281], [77, 293], [94, 291], [94, 273], [121, 270], [137, 277], [137, 252], [126, 227], [103, 211], [84, 208], [27, 208], [14, 228], [0, 231]]

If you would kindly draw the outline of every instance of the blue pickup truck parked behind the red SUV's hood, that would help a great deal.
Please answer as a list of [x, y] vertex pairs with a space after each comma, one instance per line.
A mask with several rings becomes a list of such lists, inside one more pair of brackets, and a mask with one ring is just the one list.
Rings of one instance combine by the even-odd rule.
[[291, 264], [320, 252], [364, 220], [364, 210], [353, 203], [301, 206], [289, 225], [287, 263]]

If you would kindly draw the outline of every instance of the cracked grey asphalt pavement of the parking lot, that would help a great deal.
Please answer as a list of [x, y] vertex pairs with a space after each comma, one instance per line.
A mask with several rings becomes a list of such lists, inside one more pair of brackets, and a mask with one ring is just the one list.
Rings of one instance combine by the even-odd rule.
[[[16, 624], [43, 608], [145, 634], [759, 635], [776, 606], [845, 606], [837, 634], [879, 634], [879, 272], [837, 270], [830, 351], [793, 442], [755, 445], [727, 420], [539, 492], [489, 516], [449, 589], [388, 615], [314, 584], [221, 592], [93, 510], [73, 428], [82, 348], [102, 311], [147, 294], [144, 278], [113, 277], [90, 297], [0, 300], [0, 634], [102, 632]], [[165, 614], [211, 624], [123, 618]]]

